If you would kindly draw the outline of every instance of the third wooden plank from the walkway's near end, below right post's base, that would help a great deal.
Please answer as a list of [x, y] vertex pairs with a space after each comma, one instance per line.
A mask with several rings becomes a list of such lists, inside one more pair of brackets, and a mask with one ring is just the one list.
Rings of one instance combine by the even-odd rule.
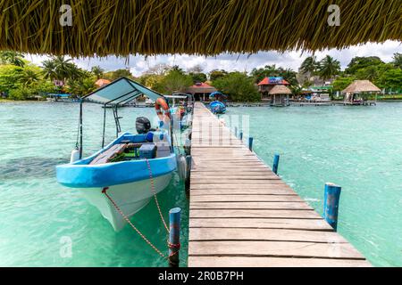
[[189, 241], [218, 240], [269, 240], [269, 241], [300, 241], [321, 243], [348, 243], [336, 232], [318, 232], [285, 229], [255, 229], [255, 228], [191, 228]]

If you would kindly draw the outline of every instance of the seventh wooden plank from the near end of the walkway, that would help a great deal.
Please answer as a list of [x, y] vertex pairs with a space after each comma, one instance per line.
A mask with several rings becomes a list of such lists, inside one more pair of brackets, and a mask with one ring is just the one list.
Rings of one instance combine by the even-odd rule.
[[191, 195], [191, 202], [304, 202], [297, 195]]

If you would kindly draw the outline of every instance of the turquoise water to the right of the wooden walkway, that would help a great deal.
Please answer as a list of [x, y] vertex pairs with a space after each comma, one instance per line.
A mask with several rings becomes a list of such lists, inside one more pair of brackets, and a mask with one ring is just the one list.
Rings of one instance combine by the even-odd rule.
[[[402, 266], [402, 103], [231, 108], [254, 150], [322, 214], [324, 183], [342, 186], [338, 231], [375, 266]], [[240, 120], [241, 121], [241, 120]]]

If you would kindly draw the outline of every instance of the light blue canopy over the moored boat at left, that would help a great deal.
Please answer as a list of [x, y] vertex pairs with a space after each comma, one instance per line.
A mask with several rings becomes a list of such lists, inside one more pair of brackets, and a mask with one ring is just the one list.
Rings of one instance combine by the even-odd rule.
[[121, 77], [114, 80], [112, 83], [105, 85], [96, 91], [83, 97], [84, 101], [96, 102], [99, 104], [125, 104], [133, 101], [139, 95], [146, 95], [148, 98], [156, 101], [158, 98], [163, 98], [159, 94], [144, 85], [140, 85], [127, 77]]

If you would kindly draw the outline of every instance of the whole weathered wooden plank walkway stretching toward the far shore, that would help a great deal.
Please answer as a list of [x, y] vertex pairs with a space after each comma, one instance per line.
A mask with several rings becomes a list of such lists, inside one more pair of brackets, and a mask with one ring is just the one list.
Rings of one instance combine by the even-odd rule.
[[199, 102], [191, 155], [188, 266], [370, 266]]

